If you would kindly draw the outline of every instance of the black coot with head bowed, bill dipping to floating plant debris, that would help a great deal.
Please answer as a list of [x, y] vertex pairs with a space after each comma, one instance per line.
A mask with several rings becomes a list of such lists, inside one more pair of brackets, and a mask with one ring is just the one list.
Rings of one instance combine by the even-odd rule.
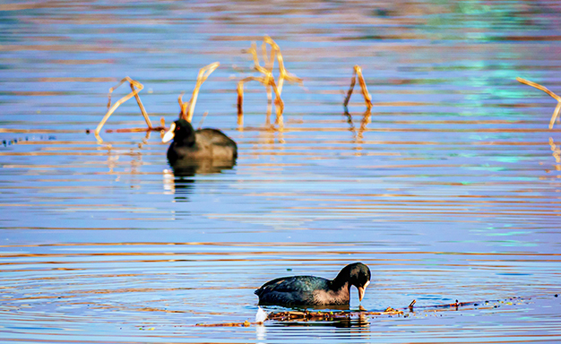
[[349, 305], [350, 286], [362, 301], [370, 283], [370, 269], [362, 262], [345, 266], [334, 280], [292, 276], [270, 280], [255, 290], [259, 305]]

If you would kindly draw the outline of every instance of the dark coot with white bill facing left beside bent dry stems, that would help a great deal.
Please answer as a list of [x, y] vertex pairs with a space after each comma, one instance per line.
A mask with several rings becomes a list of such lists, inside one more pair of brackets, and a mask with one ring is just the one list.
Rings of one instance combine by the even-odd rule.
[[172, 166], [190, 160], [235, 161], [237, 158], [237, 144], [226, 134], [216, 129], [194, 130], [185, 119], [171, 124], [161, 141], [169, 142], [171, 139], [168, 160]]

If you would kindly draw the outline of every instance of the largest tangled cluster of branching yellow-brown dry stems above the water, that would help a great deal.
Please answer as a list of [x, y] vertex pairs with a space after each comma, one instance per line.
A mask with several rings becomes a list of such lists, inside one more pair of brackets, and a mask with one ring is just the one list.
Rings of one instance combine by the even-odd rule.
[[[267, 45], [271, 46], [271, 57], [267, 56]], [[252, 47], [247, 50], [247, 53], [250, 53], [254, 57], [255, 63], [255, 70], [259, 73], [262, 73], [263, 76], [255, 77], [249, 76], [246, 77], [239, 82], [237, 82], [237, 125], [243, 126], [244, 125], [244, 110], [243, 110], [243, 102], [244, 102], [244, 83], [246, 82], [261, 82], [265, 86], [267, 91], [267, 99], [268, 99], [268, 116], [271, 111], [271, 104], [272, 104], [272, 92], [271, 89], [275, 93], [275, 109], [277, 113], [277, 119], [275, 123], [282, 127], [282, 113], [284, 111], [284, 103], [280, 98], [280, 94], [282, 93], [282, 86], [284, 85], [284, 81], [288, 82], [298, 82], [302, 85], [302, 79], [298, 78], [296, 75], [288, 73], [287, 70], [284, 68], [284, 59], [282, 58], [282, 54], [280, 53], [280, 47], [272, 40], [269, 36], [265, 36], [263, 38], [262, 44], [263, 50], [263, 61], [264, 66], [259, 64], [259, 57], [257, 56], [257, 46], [255, 43], [252, 43]], [[277, 58], [279, 63], [279, 82], [276, 83], [274, 76], [272, 75], [272, 70], [274, 68], [274, 59]]]

